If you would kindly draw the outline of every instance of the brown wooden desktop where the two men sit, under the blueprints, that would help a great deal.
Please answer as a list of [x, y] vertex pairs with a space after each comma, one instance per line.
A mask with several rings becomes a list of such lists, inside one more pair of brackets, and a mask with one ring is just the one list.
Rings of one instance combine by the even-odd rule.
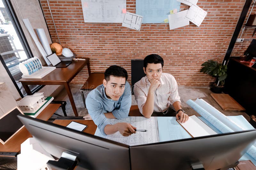
[[[130, 108], [129, 116], [143, 116], [143, 115], [140, 114], [140, 110], [139, 110], [138, 106], [134, 105], [134, 106], [131, 106], [131, 108]], [[53, 123], [59, 124], [61, 126], [67, 126], [72, 121], [80, 123], [80, 124], [86, 124], [88, 127], [83, 132], [86, 132], [86, 133], [89, 133], [92, 135], [94, 135], [94, 133], [97, 129], [96, 124], [94, 124], [94, 122], [92, 120], [54, 120]]]

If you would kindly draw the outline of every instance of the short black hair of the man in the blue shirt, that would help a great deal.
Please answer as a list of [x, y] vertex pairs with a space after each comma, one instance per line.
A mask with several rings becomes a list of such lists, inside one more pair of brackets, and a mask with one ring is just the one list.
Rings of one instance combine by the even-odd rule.
[[125, 77], [125, 81], [128, 78], [127, 71], [123, 67], [116, 66], [116, 65], [110, 66], [106, 69], [104, 73], [104, 76], [105, 76], [104, 78], [106, 81], [109, 81], [110, 75], [113, 75], [115, 77]]

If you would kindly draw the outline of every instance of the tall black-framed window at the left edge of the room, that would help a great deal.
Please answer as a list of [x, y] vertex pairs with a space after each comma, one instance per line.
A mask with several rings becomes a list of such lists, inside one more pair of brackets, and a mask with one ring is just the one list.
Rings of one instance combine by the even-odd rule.
[[[0, 0], [0, 60], [21, 97], [27, 93], [19, 82], [22, 76], [19, 63], [31, 57], [32, 52], [10, 1]], [[30, 85], [29, 88], [33, 92], [39, 86]]]

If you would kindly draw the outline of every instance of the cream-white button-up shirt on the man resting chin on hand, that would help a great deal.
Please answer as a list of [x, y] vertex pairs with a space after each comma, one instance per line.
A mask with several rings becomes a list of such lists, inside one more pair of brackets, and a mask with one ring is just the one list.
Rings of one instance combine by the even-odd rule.
[[[171, 74], [162, 73], [159, 81], [160, 86], [154, 93], [154, 111], [164, 112], [169, 108], [170, 104], [177, 101], [180, 102], [180, 96], [177, 82]], [[134, 96], [141, 114], [143, 114], [142, 108], [146, 103], [149, 87], [150, 82], [147, 76], [142, 77], [140, 81], [134, 84]]]

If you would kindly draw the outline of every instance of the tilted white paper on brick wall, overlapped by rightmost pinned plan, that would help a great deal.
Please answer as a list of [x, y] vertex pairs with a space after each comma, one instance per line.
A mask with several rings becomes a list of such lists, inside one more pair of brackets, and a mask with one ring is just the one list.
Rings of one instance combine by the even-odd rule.
[[184, 10], [168, 15], [170, 30], [189, 25], [189, 20], [186, 18], [187, 12], [188, 10]]

